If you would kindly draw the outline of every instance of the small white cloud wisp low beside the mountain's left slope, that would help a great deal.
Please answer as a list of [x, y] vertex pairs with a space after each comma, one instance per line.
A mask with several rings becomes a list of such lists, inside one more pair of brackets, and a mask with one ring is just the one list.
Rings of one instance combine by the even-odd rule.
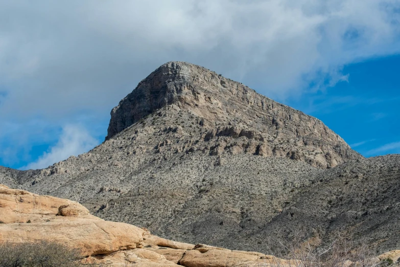
[[67, 159], [71, 155], [79, 155], [95, 147], [99, 142], [91, 137], [82, 126], [66, 125], [58, 143], [44, 152], [35, 162], [28, 164], [21, 169], [42, 169], [56, 162]]

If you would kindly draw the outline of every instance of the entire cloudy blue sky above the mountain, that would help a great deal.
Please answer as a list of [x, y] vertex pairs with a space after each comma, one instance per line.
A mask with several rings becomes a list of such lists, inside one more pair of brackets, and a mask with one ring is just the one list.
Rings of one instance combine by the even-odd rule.
[[0, 0], [0, 165], [100, 144], [168, 61], [315, 116], [364, 157], [400, 153], [400, 0]]

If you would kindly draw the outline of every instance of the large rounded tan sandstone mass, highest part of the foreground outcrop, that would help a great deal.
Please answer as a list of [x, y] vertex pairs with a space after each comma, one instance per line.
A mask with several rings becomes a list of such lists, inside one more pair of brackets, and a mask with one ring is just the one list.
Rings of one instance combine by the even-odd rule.
[[83, 256], [143, 247], [148, 233], [89, 214], [79, 203], [40, 196], [0, 185], [0, 241], [33, 242], [46, 238], [82, 249]]

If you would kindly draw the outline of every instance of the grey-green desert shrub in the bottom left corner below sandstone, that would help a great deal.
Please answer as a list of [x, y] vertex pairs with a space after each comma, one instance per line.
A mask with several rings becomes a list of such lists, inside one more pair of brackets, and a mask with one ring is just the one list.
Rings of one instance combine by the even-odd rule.
[[0, 244], [0, 267], [73, 267], [79, 259], [78, 250], [55, 242]]

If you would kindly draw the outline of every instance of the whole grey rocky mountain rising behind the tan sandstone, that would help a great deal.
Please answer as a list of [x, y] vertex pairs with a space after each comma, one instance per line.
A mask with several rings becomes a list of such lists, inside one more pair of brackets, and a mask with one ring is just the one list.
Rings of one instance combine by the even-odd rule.
[[267, 252], [301, 230], [391, 250], [399, 167], [239, 82], [168, 62], [112, 109], [101, 145], [42, 170], [0, 169], [0, 183], [177, 241]]

